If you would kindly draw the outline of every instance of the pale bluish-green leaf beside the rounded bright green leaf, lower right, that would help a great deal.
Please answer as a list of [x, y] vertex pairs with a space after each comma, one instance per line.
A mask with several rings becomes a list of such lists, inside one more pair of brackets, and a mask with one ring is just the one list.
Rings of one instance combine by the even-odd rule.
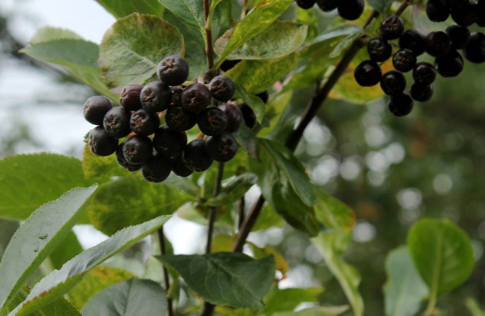
[[429, 291], [414, 267], [407, 247], [399, 247], [387, 255], [385, 270], [385, 315], [416, 315]]

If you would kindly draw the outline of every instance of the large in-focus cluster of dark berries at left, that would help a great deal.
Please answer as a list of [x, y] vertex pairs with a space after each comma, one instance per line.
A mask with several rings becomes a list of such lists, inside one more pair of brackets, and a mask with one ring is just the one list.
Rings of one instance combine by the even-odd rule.
[[[214, 160], [233, 159], [238, 143], [232, 133], [241, 126], [243, 114], [238, 106], [224, 103], [234, 95], [231, 79], [217, 76], [209, 85], [184, 87], [189, 66], [179, 56], [163, 59], [157, 75], [159, 81], [124, 87], [122, 106], [113, 107], [104, 96], [86, 102], [84, 117], [98, 125], [89, 134], [91, 151], [99, 156], [116, 152], [116, 161], [123, 168], [132, 172], [141, 169], [150, 182], [164, 181], [171, 171], [188, 177], [194, 171], [209, 169]], [[224, 104], [211, 105], [216, 102]], [[163, 114], [166, 124], [160, 126]], [[187, 143], [185, 131], [195, 124], [206, 137]]]

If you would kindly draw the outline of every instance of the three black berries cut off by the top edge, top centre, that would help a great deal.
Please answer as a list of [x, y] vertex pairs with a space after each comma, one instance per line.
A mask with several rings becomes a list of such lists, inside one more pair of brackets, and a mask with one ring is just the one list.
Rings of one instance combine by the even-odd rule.
[[324, 11], [330, 12], [335, 9], [340, 17], [346, 20], [357, 20], [364, 12], [364, 0], [296, 0], [296, 4], [303, 9], [310, 9], [317, 5]]

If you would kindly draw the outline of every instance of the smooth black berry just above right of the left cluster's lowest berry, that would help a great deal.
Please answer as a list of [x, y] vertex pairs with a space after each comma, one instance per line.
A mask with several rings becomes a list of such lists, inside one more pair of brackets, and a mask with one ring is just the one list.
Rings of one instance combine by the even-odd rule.
[[185, 145], [187, 145], [187, 134], [171, 129], [167, 125], [160, 126], [153, 136], [155, 150], [168, 157], [181, 155]]

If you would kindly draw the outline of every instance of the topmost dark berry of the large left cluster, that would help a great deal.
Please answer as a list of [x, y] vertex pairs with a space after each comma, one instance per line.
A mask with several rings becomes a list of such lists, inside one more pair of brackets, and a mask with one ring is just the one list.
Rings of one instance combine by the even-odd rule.
[[157, 76], [167, 86], [181, 85], [189, 77], [189, 64], [177, 55], [165, 57], [157, 66]]

